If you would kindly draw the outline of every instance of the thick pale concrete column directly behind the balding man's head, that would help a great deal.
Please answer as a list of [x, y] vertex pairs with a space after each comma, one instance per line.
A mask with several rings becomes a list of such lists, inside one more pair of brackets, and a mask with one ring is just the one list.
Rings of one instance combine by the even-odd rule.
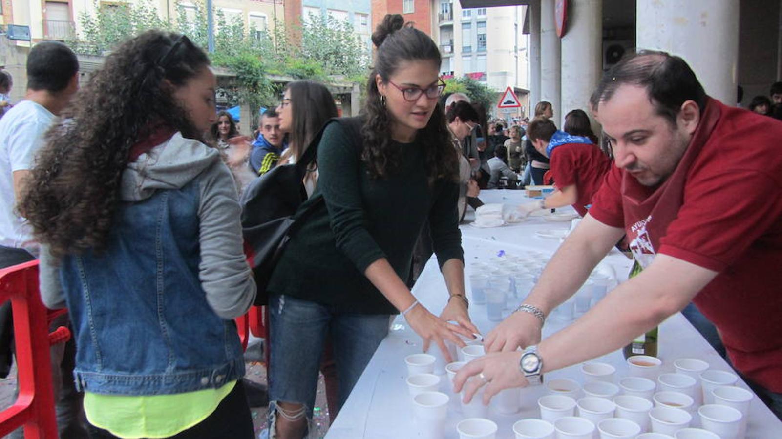
[[713, 98], [736, 102], [739, 2], [637, 0], [636, 45], [681, 56]]

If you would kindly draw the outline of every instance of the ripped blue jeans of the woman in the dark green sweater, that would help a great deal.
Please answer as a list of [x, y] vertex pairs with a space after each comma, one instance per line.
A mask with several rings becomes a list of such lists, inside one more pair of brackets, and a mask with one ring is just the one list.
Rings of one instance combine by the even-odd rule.
[[271, 294], [269, 298], [269, 415], [276, 402], [302, 404], [312, 419], [317, 373], [326, 335], [331, 336], [342, 408], [389, 331], [388, 314], [337, 312], [334, 307]]

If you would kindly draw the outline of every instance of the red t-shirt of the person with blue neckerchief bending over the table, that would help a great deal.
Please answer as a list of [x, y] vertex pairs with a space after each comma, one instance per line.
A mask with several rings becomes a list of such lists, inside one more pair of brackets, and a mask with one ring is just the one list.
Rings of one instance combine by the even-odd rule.
[[579, 198], [573, 209], [580, 216], [587, 215], [586, 206], [592, 204], [592, 196], [603, 184], [605, 174], [611, 170], [611, 160], [597, 145], [566, 143], [554, 148], [549, 163], [549, 173], [557, 187], [576, 185]]

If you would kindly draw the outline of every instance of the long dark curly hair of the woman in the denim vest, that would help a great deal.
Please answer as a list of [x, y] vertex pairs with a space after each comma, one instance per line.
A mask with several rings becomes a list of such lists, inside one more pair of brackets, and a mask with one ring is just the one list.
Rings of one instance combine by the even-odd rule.
[[181, 86], [206, 66], [206, 54], [187, 37], [162, 30], [125, 41], [106, 57], [48, 131], [20, 202], [52, 255], [102, 248], [135, 143], [161, 126], [203, 141], [169, 83]]

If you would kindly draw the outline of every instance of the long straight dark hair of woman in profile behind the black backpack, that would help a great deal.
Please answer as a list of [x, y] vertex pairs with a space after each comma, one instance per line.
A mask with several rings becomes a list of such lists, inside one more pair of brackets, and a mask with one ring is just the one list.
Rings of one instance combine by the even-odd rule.
[[334, 96], [323, 84], [311, 80], [296, 80], [285, 87], [291, 92], [292, 127], [289, 148], [299, 159], [312, 137], [332, 117], [339, 116]]

